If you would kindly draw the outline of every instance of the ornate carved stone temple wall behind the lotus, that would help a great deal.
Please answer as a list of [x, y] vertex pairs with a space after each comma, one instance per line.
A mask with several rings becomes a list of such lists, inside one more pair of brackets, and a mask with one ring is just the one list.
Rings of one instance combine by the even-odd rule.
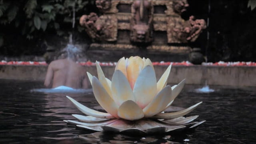
[[153, 61], [188, 60], [204, 20], [181, 17], [189, 6], [186, 0], [96, 0], [102, 15], [92, 12], [80, 18], [93, 43], [90, 60], [118, 60], [139, 55]]

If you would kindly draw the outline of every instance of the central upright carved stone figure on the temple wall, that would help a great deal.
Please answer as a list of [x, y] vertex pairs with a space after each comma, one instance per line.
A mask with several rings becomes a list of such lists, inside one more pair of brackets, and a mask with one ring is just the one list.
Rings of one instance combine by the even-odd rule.
[[148, 0], [136, 0], [132, 4], [130, 38], [132, 42], [152, 42], [153, 6]]

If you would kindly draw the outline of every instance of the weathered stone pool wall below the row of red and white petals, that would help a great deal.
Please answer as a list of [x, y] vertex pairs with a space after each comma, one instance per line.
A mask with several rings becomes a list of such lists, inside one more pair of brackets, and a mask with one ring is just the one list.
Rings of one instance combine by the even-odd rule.
[[[88, 72], [97, 76], [95, 66], [86, 66]], [[167, 66], [154, 66], [159, 79]], [[107, 78], [112, 77], [114, 66], [102, 66]], [[44, 81], [47, 66], [0, 65], [0, 79]], [[168, 83], [177, 84], [186, 78], [186, 84], [223, 86], [256, 86], [255, 66], [172, 66]]]

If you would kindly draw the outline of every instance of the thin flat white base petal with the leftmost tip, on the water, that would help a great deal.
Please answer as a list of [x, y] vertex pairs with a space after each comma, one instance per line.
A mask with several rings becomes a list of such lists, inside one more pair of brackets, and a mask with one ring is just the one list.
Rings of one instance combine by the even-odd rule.
[[95, 127], [95, 126], [104, 126], [104, 125], [108, 125], [111, 124], [112, 122], [115, 122], [117, 119], [112, 119], [112, 120], [107, 120], [107, 121], [103, 121], [103, 122], [94, 122], [94, 123], [90, 123], [90, 122], [78, 122], [75, 120], [66, 120], [66, 122], [70, 123], [70, 124], [74, 124], [74, 125], [83, 125], [83, 126], [89, 126], [89, 127]]

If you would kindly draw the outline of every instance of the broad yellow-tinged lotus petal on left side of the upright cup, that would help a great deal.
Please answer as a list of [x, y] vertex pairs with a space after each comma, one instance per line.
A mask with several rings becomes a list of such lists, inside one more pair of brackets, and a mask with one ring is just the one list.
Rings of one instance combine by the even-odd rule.
[[114, 100], [109, 96], [108, 92], [104, 89], [100, 81], [95, 76], [92, 77], [92, 90], [100, 106], [102, 106], [102, 108], [104, 108], [106, 112], [118, 118], [118, 106], [116, 105]]

